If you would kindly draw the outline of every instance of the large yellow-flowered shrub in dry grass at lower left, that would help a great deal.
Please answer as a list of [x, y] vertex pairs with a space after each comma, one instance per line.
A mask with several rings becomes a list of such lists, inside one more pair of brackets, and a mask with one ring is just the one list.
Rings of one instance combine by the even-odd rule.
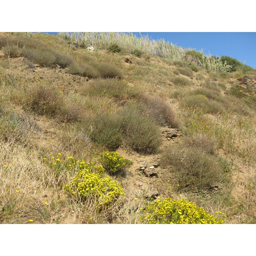
[[93, 199], [98, 209], [106, 208], [123, 196], [123, 188], [108, 175], [102, 177], [104, 168], [92, 163], [80, 162], [76, 176], [63, 189], [77, 200]]

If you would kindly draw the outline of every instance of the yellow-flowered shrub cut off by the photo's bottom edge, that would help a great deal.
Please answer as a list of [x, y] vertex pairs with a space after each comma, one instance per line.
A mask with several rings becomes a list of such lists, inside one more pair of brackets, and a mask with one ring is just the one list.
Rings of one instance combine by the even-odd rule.
[[173, 200], [166, 197], [164, 200], [156, 199], [145, 210], [140, 219], [142, 223], [149, 224], [223, 224], [220, 217], [210, 215], [202, 207], [195, 203]]

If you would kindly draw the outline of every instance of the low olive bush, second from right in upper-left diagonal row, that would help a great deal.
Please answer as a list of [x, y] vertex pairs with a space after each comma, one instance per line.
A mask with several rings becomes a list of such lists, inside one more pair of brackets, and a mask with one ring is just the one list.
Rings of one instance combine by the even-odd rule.
[[99, 77], [98, 71], [90, 64], [78, 64], [71, 63], [67, 67], [68, 72], [72, 75], [80, 75], [88, 78], [97, 78]]

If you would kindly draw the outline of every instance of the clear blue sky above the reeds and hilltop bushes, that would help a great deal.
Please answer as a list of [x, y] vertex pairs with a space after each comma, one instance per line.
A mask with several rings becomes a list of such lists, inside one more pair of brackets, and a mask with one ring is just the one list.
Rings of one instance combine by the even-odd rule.
[[[164, 38], [181, 47], [190, 47], [196, 51], [203, 49], [216, 56], [230, 56], [256, 68], [256, 32], [141, 32], [149, 39]], [[137, 36], [139, 32], [136, 33]]]

